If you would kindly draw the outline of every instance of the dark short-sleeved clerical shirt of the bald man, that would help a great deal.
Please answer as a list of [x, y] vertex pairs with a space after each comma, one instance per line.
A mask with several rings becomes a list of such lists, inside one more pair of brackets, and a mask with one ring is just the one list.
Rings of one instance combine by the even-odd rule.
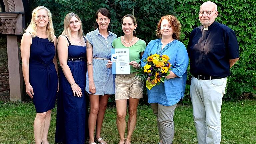
[[205, 30], [192, 30], [187, 47], [192, 75], [229, 76], [229, 60], [239, 57], [235, 32], [228, 26], [214, 22]]

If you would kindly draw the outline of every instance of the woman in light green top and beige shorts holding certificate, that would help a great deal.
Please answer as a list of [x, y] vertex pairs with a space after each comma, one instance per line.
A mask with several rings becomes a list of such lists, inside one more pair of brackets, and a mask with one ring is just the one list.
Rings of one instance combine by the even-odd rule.
[[[118, 37], [113, 40], [113, 48], [129, 48], [130, 51], [130, 74], [129, 75], [116, 75], [115, 79], [115, 100], [117, 119], [116, 124], [120, 135], [118, 144], [131, 144], [131, 136], [136, 125], [137, 120], [137, 106], [140, 98], [143, 97], [144, 82], [135, 77], [135, 69], [140, 68], [140, 59], [143, 55], [146, 43], [136, 37], [134, 29], [137, 27], [136, 19], [133, 15], [127, 14], [122, 19], [122, 29], [124, 36]], [[111, 61], [107, 63], [110, 67]], [[127, 138], [125, 140], [125, 116], [126, 116], [126, 103], [129, 99], [129, 120], [127, 125]]]

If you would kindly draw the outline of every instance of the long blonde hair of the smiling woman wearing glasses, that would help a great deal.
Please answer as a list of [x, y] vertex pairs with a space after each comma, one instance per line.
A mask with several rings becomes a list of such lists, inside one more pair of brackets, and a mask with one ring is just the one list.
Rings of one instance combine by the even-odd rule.
[[40, 9], [45, 9], [47, 14], [48, 14], [49, 22], [46, 26], [46, 35], [47, 35], [48, 40], [50, 42], [53, 42], [53, 40], [54, 40], [54, 28], [53, 28], [53, 24], [52, 24], [52, 13], [50, 12], [50, 10], [48, 8], [46, 8], [44, 6], [38, 6], [33, 10], [30, 24], [28, 25], [25, 32], [29, 32], [31, 34], [32, 38], [36, 37], [37, 24], [36, 24], [36, 21], [35, 21], [35, 16], [36, 16], [37, 11], [40, 10]]

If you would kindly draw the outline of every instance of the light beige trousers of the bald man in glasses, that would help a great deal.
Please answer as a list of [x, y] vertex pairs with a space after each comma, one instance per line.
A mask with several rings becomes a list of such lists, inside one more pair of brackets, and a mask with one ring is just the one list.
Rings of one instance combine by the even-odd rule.
[[198, 144], [220, 144], [220, 110], [226, 85], [227, 78], [191, 79], [190, 97]]

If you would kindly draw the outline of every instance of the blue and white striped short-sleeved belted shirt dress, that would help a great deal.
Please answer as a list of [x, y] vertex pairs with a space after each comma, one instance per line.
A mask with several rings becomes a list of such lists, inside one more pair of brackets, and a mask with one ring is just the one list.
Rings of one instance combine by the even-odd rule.
[[[112, 41], [117, 38], [116, 34], [108, 31], [105, 39], [96, 29], [86, 34], [86, 40], [93, 46], [92, 55], [96, 58], [111, 58]], [[112, 68], [107, 68], [108, 60], [93, 58], [93, 80], [96, 88], [94, 95], [115, 94], [115, 75], [112, 75]], [[86, 92], [89, 92], [88, 70], [86, 73]]]

